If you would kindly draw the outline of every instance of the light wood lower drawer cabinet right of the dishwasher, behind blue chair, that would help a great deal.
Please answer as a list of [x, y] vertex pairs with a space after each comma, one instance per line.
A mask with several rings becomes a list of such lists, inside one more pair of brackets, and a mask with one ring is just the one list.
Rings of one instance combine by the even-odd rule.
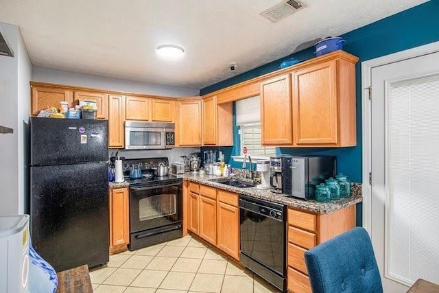
[[288, 208], [287, 222], [288, 291], [311, 292], [305, 252], [355, 227], [355, 205], [325, 214]]

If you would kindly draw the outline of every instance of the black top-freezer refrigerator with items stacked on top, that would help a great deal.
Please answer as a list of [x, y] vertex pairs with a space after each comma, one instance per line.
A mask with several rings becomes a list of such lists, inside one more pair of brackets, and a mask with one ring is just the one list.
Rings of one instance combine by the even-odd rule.
[[108, 262], [108, 121], [30, 118], [32, 245], [57, 272]]

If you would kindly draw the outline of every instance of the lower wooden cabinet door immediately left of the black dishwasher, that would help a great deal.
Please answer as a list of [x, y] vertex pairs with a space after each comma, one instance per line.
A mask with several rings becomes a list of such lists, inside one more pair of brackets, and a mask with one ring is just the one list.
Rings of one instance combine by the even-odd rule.
[[217, 247], [239, 260], [239, 208], [217, 203]]

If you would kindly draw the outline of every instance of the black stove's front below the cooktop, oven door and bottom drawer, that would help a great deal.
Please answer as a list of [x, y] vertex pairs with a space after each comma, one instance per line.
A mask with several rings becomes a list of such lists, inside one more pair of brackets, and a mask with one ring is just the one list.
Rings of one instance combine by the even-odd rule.
[[130, 250], [182, 236], [181, 183], [130, 187]]

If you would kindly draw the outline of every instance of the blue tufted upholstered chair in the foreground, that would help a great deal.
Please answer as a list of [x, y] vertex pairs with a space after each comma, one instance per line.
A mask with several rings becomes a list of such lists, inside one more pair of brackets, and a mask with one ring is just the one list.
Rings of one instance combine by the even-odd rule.
[[353, 228], [305, 253], [309, 280], [318, 292], [383, 292], [366, 230]]

